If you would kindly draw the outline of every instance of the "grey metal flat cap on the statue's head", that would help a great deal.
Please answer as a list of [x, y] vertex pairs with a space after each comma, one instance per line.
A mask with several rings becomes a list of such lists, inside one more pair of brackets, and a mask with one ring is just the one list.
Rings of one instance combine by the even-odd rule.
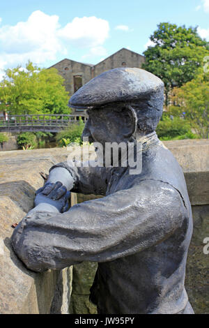
[[69, 100], [69, 106], [91, 108], [120, 101], [154, 96], [164, 90], [159, 77], [140, 68], [114, 68], [84, 84]]

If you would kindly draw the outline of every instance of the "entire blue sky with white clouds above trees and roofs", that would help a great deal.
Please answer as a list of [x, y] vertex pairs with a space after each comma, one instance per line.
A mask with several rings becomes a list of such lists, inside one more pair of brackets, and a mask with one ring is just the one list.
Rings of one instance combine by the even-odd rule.
[[209, 0], [0, 0], [0, 80], [32, 61], [97, 64], [125, 47], [143, 54], [160, 22], [209, 40]]

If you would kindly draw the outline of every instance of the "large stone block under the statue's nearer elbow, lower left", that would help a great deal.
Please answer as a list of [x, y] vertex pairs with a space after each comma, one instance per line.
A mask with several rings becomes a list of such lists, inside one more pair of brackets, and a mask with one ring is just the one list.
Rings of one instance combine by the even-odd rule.
[[0, 198], [0, 213], [0, 313], [68, 313], [72, 269], [44, 273], [26, 269], [10, 245], [11, 225], [19, 223], [26, 213], [7, 196]]

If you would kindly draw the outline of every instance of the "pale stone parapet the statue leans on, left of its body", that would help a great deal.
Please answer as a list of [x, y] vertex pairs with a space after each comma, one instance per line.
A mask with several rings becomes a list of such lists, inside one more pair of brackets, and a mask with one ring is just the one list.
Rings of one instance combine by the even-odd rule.
[[0, 313], [69, 313], [72, 267], [35, 273], [24, 267], [10, 246], [12, 225], [33, 207], [35, 191], [43, 184], [39, 172], [64, 161], [64, 153], [63, 149], [49, 150], [47, 155], [42, 149], [1, 152]]

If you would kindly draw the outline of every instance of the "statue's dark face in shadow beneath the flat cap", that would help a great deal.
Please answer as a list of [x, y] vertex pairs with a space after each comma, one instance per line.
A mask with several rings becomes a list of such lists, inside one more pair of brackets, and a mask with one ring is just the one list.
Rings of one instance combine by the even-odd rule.
[[89, 142], [127, 142], [132, 131], [130, 115], [125, 108], [120, 111], [113, 107], [98, 107], [88, 110], [88, 121], [86, 122], [83, 137], [88, 137]]

